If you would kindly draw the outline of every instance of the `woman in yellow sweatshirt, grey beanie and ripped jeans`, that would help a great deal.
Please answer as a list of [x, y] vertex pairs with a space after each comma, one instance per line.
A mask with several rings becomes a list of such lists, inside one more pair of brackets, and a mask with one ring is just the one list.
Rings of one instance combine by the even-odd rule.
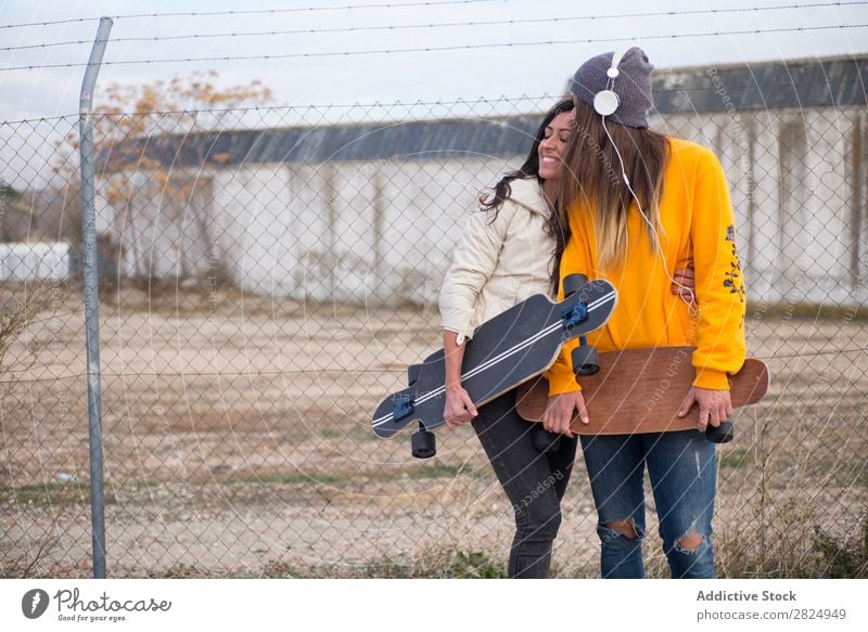
[[[571, 235], [561, 280], [574, 272], [618, 289], [607, 326], [588, 336], [600, 351], [695, 347], [695, 379], [681, 414], [694, 402], [698, 430], [732, 412], [727, 374], [744, 361], [744, 288], [732, 206], [723, 168], [707, 149], [648, 129], [652, 106], [644, 52], [604, 53], [576, 72], [576, 124], [563, 160], [558, 208]], [[669, 292], [673, 271], [691, 260], [695, 293]], [[561, 293], [563, 291], [561, 289]], [[546, 428], [570, 435], [574, 411], [587, 423], [569, 346], [549, 372]], [[582, 436], [598, 512], [603, 577], [643, 577], [644, 468], [673, 577], [714, 577], [711, 544], [716, 487], [715, 447], [701, 431]]]

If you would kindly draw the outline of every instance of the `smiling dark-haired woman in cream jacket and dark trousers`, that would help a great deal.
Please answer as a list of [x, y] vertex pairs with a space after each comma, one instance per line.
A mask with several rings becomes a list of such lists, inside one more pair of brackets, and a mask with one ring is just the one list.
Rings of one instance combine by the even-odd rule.
[[551, 201], [572, 111], [572, 101], [562, 101], [546, 114], [524, 165], [505, 176], [482, 210], [470, 216], [441, 292], [444, 418], [450, 427], [473, 422], [512, 504], [515, 536], [508, 572], [514, 578], [548, 577], [576, 440], [563, 437], [556, 450], [538, 452], [533, 424], [515, 412], [514, 390], [477, 410], [461, 386], [461, 360], [464, 339], [480, 324], [534, 294], [552, 294]]

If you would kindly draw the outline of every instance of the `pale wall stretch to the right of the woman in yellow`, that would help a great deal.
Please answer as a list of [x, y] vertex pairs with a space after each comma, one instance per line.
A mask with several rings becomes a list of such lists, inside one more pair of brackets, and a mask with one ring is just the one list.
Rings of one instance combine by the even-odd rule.
[[720, 157], [750, 298], [868, 305], [867, 118], [783, 109], [674, 115], [652, 127]]

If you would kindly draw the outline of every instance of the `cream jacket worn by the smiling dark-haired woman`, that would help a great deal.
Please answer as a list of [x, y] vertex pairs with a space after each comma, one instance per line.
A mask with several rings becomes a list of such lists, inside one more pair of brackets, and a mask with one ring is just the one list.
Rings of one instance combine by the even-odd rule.
[[546, 232], [549, 207], [536, 178], [510, 182], [497, 218], [473, 212], [441, 289], [443, 328], [458, 343], [482, 323], [534, 294], [551, 295], [554, 242]]

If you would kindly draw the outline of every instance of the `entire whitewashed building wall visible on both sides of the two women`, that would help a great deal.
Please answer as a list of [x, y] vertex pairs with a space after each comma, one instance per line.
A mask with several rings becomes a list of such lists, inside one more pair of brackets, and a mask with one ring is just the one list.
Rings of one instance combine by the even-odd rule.
[[[751, 299], [868, 305], [866, 118], [827, 108], [652, 121], [720, 156]], [[138, 194], [111, 211], [113, 231], [127, 274], [201, 278], [219, 263], [255, 293], [434, 305], [463, 217], [520, 162], [229, 166], [194, 175], [204, 183], [182, 207]]]

